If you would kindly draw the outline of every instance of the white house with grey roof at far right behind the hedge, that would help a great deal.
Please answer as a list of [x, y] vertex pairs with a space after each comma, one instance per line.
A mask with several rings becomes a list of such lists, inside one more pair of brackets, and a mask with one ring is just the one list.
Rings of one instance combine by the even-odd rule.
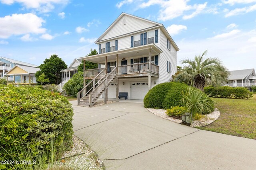
[[252, 91], [252, 86], [256, 86], [256, 74], [254, 68], [246, 70], [230, 71], [228, 78], [230, 81], [226, 86], [231, 87], [246, 87]]

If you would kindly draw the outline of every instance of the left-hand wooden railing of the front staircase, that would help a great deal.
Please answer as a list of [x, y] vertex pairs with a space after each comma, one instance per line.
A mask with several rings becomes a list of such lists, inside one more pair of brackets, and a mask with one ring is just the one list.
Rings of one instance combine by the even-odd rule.
[[90, 90], [96, 87], [96, 85], [104, 78], [106, 75], [106, 68], [104, 68], [96, 77], [94, 77], [86, 86], [80, 90], [77, 94], [77, 103], [80, 104], [80, 100], [86, 96]]

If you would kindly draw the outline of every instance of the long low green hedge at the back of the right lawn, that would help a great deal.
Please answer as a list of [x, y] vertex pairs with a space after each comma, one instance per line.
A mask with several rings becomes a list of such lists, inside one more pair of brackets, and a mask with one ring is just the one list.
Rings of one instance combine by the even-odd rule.
[[248, 99], [251, 98], [253, 95], [245, 87], [230, 87], [230, 86], [221, 86], [218, 88], [214, 88], [212, 86], [208, 86], [204, 88], [204, 93], [220, 97], [220, 98], [240, 98], [240, 99]]

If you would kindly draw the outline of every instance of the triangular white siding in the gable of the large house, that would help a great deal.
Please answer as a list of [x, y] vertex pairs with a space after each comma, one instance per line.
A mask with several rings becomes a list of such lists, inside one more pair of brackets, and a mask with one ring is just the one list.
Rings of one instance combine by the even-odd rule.
[[[126, 19], [126, 24], [123, 25], [123, 20]], [[124, 35], [126, 33], [146, 29], [155, 26], [156, 24], [143, 21], [130, 16], [123, 16], [120, 20], [104, 35], [100, 40], [109, 39], [112, 37]]]

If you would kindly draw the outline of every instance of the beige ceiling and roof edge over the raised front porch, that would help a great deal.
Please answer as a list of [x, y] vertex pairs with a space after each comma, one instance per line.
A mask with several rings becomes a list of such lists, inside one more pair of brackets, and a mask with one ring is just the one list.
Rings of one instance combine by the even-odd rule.
[[112, 51], [109, 53], [102, 53], [102, 54], [97, 54], [97, 55], [88, 56], [88, 57], [81, 57], [79, 59], [90, 61], [93, 63], [104, 63], [106, 56], [108, 57], [108, 61], [116, 60], [116, 55], [118, 55], [119, 60], [120, 59], [122, 60], [123, 58], [148, 55], [148, 49], [151, 49], [151, 55], [158, 55], [160, 53], [163, 53], [163, 51], [155, 44], [148, 44], [148, 45], [142, 45], [142, 46], [132, 47], [128, 49]]

